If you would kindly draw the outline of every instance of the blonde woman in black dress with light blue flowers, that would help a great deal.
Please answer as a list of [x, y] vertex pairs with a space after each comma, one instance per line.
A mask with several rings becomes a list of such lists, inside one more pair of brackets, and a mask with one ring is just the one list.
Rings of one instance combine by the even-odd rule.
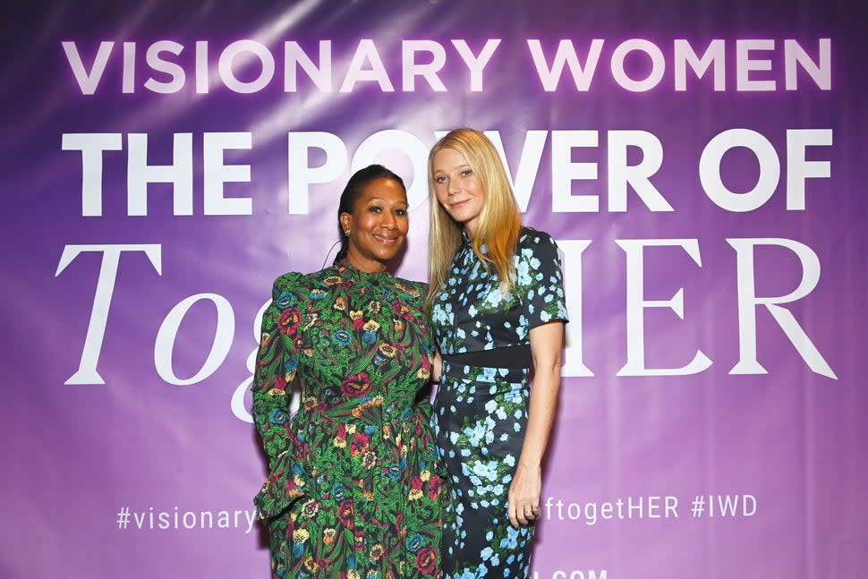
[[481, 132], [449, 132], [428, 166], [427, 304], [442, 357], [432, 425], [450, 482], [443, 571], [526, 577], [567, 320], [557, 245], [522, 226]]

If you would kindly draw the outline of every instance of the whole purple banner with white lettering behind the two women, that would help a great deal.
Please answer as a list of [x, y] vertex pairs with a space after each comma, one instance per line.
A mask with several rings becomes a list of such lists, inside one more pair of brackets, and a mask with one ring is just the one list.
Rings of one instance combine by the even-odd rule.
[[472, 126], [571, 322], [534, 579], [868, 567], [861, 4], [4, 8], [0, 575], [268, 576], [253, 353], [346, 179]]

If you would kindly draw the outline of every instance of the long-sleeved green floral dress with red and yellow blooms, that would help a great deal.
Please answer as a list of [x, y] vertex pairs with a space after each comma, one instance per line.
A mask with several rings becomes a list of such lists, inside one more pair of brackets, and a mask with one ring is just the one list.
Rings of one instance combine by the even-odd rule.
[[252, 387], [270, 467], [254, 503], [271, 531], [272, 577], [439, 575], [424, 293], [346, 263], [275, 281]]

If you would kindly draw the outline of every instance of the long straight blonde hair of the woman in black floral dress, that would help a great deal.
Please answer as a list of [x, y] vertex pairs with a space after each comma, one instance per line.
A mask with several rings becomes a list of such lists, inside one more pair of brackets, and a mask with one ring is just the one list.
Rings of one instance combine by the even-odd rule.
[[[446, 283], [455, 251], [461, 246], [461, 224], [449, 217], [434, 193], [434, 156], [442, 149], [460, 153], [471, 167], [480, 184], [485, 200], [479, 226], [473, 236], [473, 252], [489, 271], [498, 275], [501, 288], [515, 287], [513, 257], [522, 229], [522, 212], [515, 202], [506, 169], [488, 137], [475, 129], [455, 129], [438, 140], [428, 155], [428, 186], [430, 191], [429, 289], [425, 302], [432, 307], [440, 289]], [[486, 245], [485, 254], [481, 246]]]

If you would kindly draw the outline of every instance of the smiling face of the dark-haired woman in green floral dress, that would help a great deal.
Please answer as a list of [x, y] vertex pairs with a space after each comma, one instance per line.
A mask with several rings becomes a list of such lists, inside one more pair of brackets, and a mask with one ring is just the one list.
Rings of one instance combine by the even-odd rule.
[[353, 213], [341, 213], [340, 221], [349, 232], [346, 260], [362, 271], [383, 271], [410, 227], [407, 194], [392, 179], [374, 179], [359, 193]]

